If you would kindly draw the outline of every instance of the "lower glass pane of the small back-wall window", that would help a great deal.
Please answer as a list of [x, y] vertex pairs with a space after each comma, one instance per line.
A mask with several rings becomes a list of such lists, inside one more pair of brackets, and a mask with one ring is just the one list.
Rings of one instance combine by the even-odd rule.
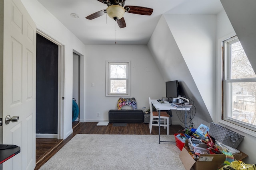
[[126, 80], [110, 80], [110, 93], [126, 94]]

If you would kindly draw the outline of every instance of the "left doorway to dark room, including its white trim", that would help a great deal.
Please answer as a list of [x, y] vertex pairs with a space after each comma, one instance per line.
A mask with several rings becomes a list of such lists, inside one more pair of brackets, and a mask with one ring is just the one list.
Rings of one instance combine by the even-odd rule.
[[36, 34], [36, 138], [63, 139], [64, 46]]

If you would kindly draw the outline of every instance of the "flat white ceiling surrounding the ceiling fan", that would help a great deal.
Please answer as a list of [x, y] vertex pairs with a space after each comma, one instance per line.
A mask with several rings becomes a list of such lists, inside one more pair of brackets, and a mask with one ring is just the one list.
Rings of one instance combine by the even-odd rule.
[[[107, 8], [98, 0], [38, 0], [85, 45], [146, 45], [162, 14], [218, 14], [220, 0], [126, 0], [125, 5], [153, 8], [151, 16], [125, 13], [120, 29], [108, 16], [85, 17]], [[71, 13], [79, 18], [72, 18]]]

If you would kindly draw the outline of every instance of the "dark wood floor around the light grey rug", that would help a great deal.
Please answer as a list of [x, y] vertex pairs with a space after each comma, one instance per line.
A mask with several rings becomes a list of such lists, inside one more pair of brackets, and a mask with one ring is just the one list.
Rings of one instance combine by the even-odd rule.
[[[127, 123], [125, 127], [113, 127], [113, 123], [108, 126], [97, 126], [98, 122], [73, 122], [73, 133], [65, 140], [58, 139], [36, 139], [36, 168], [38, 170], [47, 160], [49, 160], [58, 150], [60, 150], [76, 134], [122, 134], [122, 135], [150, 135], [149, 124]], [[180, 125], [170, 125], [169, 134], [182, 133], [183, 127]], [[158, 135], [158, 127], [152, 127], [152, 135]], [[166, 129], [161, 127], [160, 134], [165, 135]]]

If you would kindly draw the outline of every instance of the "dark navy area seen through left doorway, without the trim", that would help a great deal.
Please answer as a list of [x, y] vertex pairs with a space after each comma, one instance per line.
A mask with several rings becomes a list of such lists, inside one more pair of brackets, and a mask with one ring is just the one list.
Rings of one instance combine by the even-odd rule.
[[58, 134], [58, 45], [36, 34], [36, 133]]

